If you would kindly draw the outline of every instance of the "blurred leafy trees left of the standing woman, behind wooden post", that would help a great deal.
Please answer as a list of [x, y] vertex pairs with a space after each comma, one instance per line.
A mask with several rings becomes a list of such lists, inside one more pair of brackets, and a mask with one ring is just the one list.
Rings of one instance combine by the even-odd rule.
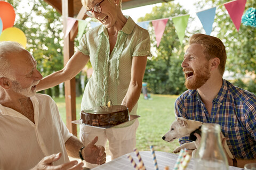
[[[43, 0], [21, 2], [7, 1], [14, 7], [16, 18], [13, 27], [21, 29], [27, 38], [26, 49], [33, 54], [37, 61], [37, 69], [43, 77], [63, 68], [63, 23], [62, 16], [55, 8]], [[24, 10], [26, 9], [26, 10]], [[86, 26], [85, 31], [89, 29]], [[78, 40], [75, 39], [75, 46]], [[77, 76], [77, 96], [82, 94], [80, 89], [80, 74]], [[59, 86], [46, 90], [46, 94], [59, 97]]]

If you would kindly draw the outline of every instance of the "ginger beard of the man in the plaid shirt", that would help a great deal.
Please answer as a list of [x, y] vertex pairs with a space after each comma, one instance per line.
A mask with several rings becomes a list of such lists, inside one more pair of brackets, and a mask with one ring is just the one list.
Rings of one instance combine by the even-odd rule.
[[[185, 69], [186, 70], [186, 69]], [[186, 70], [188, 71], [188, 70]], [[185, 74], [185, 86], [187, 89], [195, 90], [203, 86], [203, 84], [209, 80], [210, 78], [210, 71], [209, 66], [205, 64], [204, 66], [200, 67], [199, 69], [194, 71], [193, 74], [194, 78], [191, 80], [187, 80], [186, 74]]]

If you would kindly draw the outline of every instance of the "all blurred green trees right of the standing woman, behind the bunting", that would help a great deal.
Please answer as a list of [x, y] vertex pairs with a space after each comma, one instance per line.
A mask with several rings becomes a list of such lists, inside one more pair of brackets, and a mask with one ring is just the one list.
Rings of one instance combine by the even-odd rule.
[[[254, 27], [241, 24], [239, 31], [236, 30], [234, 23], [231, 21], [225, 6], [222, 4], [226, 1], [210, 1], [202, 0], [197, 2], [195, 6], [197, 11], [202, 11], [202, 8], [217, 7], [214, 20], [212, 36], [220, 38], [226, 46], [227, 63], [226, 70], [234, 72], [235, 75], [251, 74], [255, 75], [256, 67], [256, 29]], [[245, 10], [249, 7], [255, 7], [256, 1], [247, 0]], [[173, 2], [163, 3], [161, 6], [156, 6], [150, 14], [146, 14], [139, 21], [150, 21], [155, 19], [169, 18], [188, 14], [182, 10], [179, 4]], [[184, 47], [188, 42], [188, 38], [194, 33], [204, 33], [203, 28], [196, 28], [194, 25], [191, 29], [190, 23], [193, 23], [193, 18], [189, 18], [188, 27], [185, 32], [185, 38], [182, 45], [178, 41], [178, 36], [175, 33], [172, 21], [168, 21], [164, 35], [159, 47], [156, 47], [155, 33], [152, 25], [149, 26], [151, 36], [151, 51], [155, 52], [155, 56], [150, 58], [147, 63], [144, 80], [148, 82], [149, 92], [156, 94], [181, 94], [185, 89], [183, 83], [182, 68], [180, 66]], [[255, 76], [254, 76], [255, 77]], [[247, 83], [241, 83], [237, 78], [237, 85], [242, 88], [254, 90], [256, 88], [255, 78]], [[236, 84], [236, 82], [234, 82]], [[256, 91], [252, 91], [256, 92]]]

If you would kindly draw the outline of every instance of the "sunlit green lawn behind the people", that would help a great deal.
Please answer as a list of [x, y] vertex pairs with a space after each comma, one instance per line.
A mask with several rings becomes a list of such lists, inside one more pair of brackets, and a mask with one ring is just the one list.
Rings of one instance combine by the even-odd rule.
[[[168, 143], [162, 139], [174, 121], [174, 101], [177, 96], [151, 95], [151, 100], [143, 99], [140, 96], [138, 101], [139, 128], [137, 130], [137, 144], [139, 151], [149, 150], [150, 145], [154, 145], [157, 151], [172, 152], [179, 146], [178, 140]], [[61, 117], [66, 122], [66, 108], [64, 98], [54, 98], [58, 105]], [[82, 97], [76, 98], [76, 116], [79, 118]], [[79, 126], [77, 125], [77, 132]], [[79, 135], [79, 133], [78, 133]]]

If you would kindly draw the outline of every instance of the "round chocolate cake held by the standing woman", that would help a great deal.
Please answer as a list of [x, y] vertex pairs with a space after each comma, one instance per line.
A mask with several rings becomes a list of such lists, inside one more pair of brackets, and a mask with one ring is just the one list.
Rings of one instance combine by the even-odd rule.
[[118, 125], [129, 121], [129, 110], [124, 105], [94, 107], [81, 112], [82, 123], [92, 126]]

